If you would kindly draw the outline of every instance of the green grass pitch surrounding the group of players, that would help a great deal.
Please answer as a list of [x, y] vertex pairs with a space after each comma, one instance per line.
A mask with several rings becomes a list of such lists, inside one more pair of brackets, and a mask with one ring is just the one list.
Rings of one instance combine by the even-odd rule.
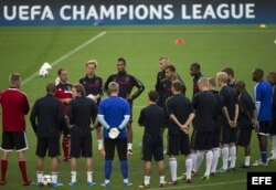
[[[100, 34], [100, 35], [99, 35]], [[98, 36], [95, 39], [95, 36]], [[178, 38], [184, 39], [183, 45], [177, 45]], [[192, 78], [189, 67], [192, 62], [199, 62], [204, 76], [215, 76], [225, 66], [235, 70], [235, 78], [246, 82], [247, 91], [254, 86], [252, 71], [264, 68], [265, 73], [275, 71], [276, 61], [276, 25], [261, 29], [258, 25], [162, 25], [162, 27], [18, 27], [0, 28], [0, 89], [8, 87], [8, 76], [12, 72], [22, 75], [22, 91], [28, 94], [30, 104], [45, 94], [45, 85], [56, 77], [59, 67], [66, 67], [68, 81], [76, 83], [85, 74], [85, 63], [96, 59], [98, 68], [96, 74], [104, 80], [116, 72], [116, 60], [124, 56], [127, 71], [141, 80], [146, 86], [145, 93], [135, 101], [134, 107], [134, 156], [129, 157], [129, 179], [137, 189], [144, 180], [144, 162], [140, 160], [138, 147], [142, 136], [142, 128], [138, 127], [137, 118], [141, 107], [147, 105], [147, 92], [153, 88], [156, 74], [159, 71], [158, 59], [168, 55], [182, 76], [188, 96], [192, 94]], [[54, 63], [50, 76], [39, 77], [38, 72], [42, 63]], [[25, 81], [28, 78], [28, 81]], [[30, 149], [26, 151], [28, 173], [32, 180], [35, 176], [35, 136], [28, 120], [28, 139]], [[94, 136], [94, 179], [97, 182], [92, 189], [103, 189], [104, 159], [97, 155], [96, 138]], [[270, 147], [270, 142], [269, 142]], [[270, 150], [270, 148], [269, 148]], [[252, 138], [252, 161], [259, 158], [256, 135]], [[50, 159], [45, 159], [44, 170], [50, 173]], [[238, 149], [237, 166], [243, 163], [243, 149]], [[178, 158], [178, 175], [184, 171], [184, 158]], [[112, 189], [121, 189], [123, 179], [116, 158], [112, 175]], [[166, 179], [170, 172], [168, 157], [166, 157]], [[219, 165], [219, 167], [221, 163]], [[252, 167], [248, 170], [237, 169], [235, 172], [222, 173], [202, 181], [193, 178], [191, 184], [180, 181], [178, 186], [164, 189], [246, 189], [247, 171], [275, 171], [276, 162], [269, 167]], [[204, 166], [201, 168], [203, 175]], [[1, 189], [19, 189], [21, 177], [17, 156], [12, 154], [8, 168], [8, 184]], [[59, 180], [65, 183], [59, 189], [73, 189], [67, 186], [71, 180], [70, 165], [61, 162]], [[86, 171], [84, 159], [78, 160], [77, 189], [86, 187]], [[158, 188], [159, 178], [157, 166], [153, 165], [151, 188]], [[38, 189], [26, 187], [23, 189]], [[50, 189], [50, 188], [44, 188]]]

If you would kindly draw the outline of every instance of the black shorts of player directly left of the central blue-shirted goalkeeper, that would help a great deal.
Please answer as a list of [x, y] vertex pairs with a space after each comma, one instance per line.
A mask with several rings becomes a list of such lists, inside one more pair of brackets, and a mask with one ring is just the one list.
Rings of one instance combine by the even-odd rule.
[[82, 157], [91, 158], [92, 154], [92, 136], [87, 135], [84, 137], [71, 136], [71, 157], [79, 158]]

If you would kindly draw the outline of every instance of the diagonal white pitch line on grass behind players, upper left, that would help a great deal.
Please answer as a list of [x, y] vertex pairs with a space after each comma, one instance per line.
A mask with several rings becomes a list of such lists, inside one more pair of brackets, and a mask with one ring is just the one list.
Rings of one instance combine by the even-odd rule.
[[[66, 53], [65, 55], [59, 57], [57, 60], [53, 61], [51, 63], [51, 66], [54, 66], [56, 64], [59, 64], [60, 62], [62, 62], [63, 60], [67, 59], [68, 56], [71, 56], [72, 54], [78, 52], [79, 50], [82, 50], [83, 48], [87, 46], [89, 43], [95, 42], [97, 39], [104, 36], [106, 34], [106, 31], [100, 32], [99, 34], [97, 34], [96, 36], [92, 38], [91, 40], [84, 42], [83, 44], [78, 45], [77, 48], [73, 49], [72, 51], [70, 51], [68, 53]], [[38, 75], [38, 72], [33, 73], [32, 75], [30, 75], [28, 78], [23, 80], [21, 85], [26, 84], [28, 82], [30, 82], [31, 80], [33, 80], [35, 76]]]

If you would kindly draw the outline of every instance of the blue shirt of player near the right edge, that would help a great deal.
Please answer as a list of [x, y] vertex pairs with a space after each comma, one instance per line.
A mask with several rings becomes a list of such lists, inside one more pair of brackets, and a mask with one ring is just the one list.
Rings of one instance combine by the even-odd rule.
[[254, 101], [259, 122], [272, 120], [273, 89], [272, 86], [261, 81], [254, 86]]

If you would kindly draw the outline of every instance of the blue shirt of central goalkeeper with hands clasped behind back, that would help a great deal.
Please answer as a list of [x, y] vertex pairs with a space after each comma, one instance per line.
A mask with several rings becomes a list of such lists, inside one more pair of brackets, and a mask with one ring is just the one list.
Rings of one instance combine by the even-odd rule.
[[[104, 115], [105, 122], [110, 128], [117, 127], [124, 120], [125, 115], [130, 115], [129, 104], [118, 96], [109, 96], [99, 103], [98, 115]], [[104, 127], [104, 138], [109, 138], [108, 130]], [[118, 138], [127, 138], [127, 129], [123, 128]]]

